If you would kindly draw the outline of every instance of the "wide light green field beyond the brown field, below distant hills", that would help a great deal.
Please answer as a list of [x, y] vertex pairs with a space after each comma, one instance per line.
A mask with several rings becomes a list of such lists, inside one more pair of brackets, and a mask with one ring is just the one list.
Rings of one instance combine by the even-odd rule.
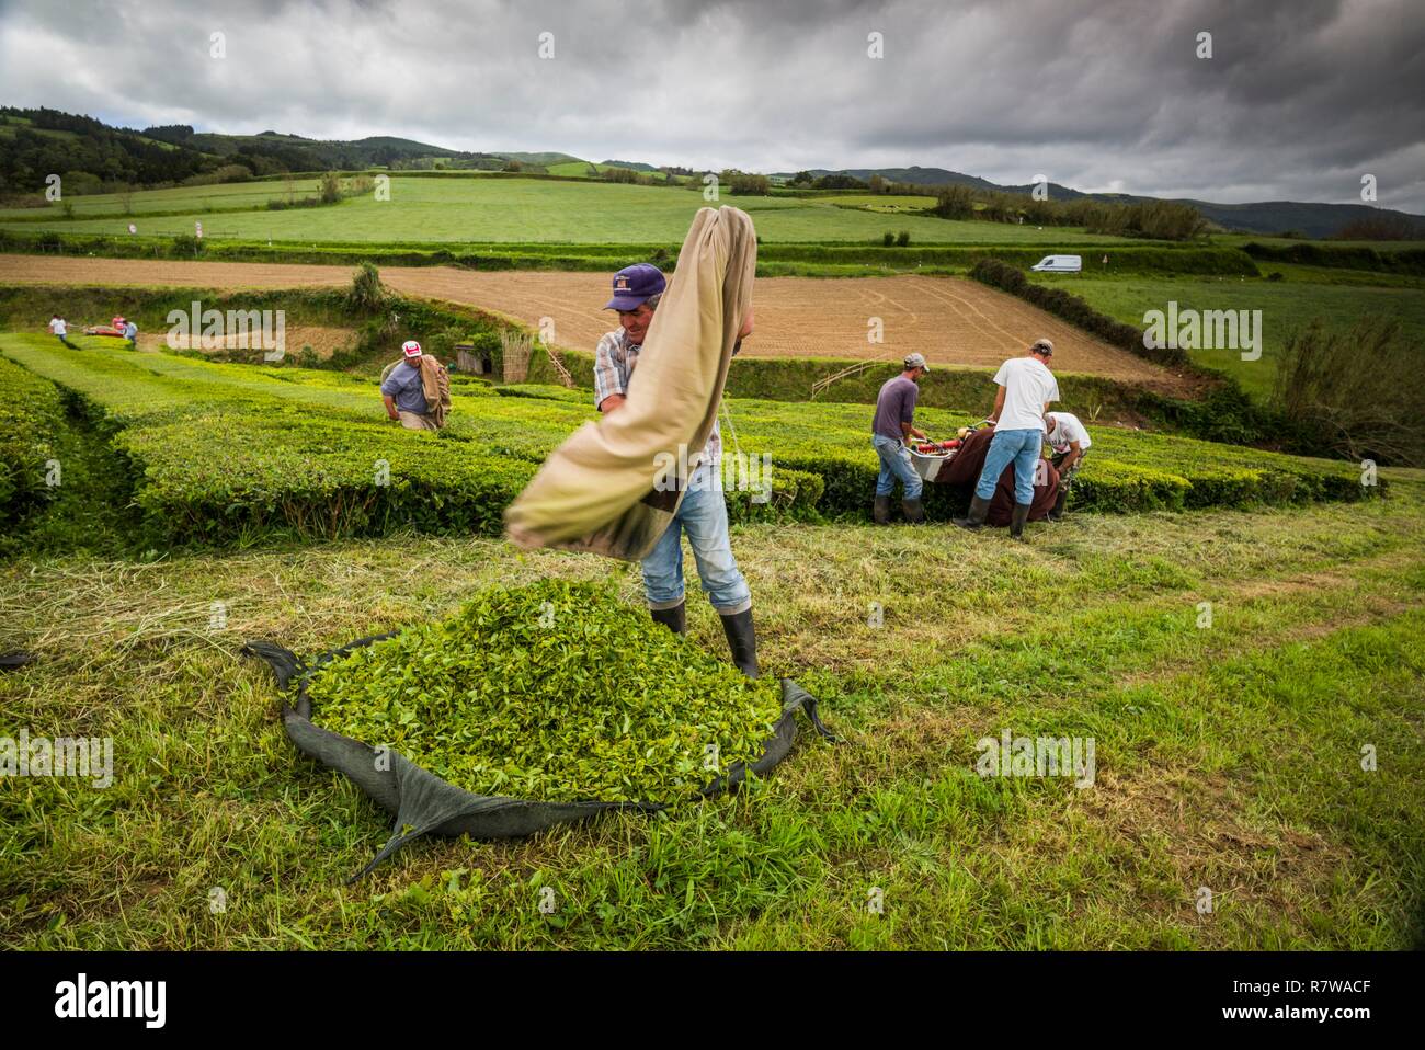
[[[224, 191], [224, 192], [219, 192]], [[637, 187], [596, 181], [569, 182], [486, 175], [420, 178], [393, 175], [390, 199], [373, 195], [322, 208], [266, 211], [269, 198], [282, 197], [281, 181], [232, 187], [190, 187], [135, 192], [135, 214], [168, 214], [142, 221], [140, 234], [191, 234], [209, 207], [249, 202], [254, 211], [215, 214], [204, 221], [207, 238], [272, 238], [275, 241], [345, 242], [681, 242], [694, 212], [707, 202], [697, 189]], [[152, 198], [152, 199], [150, 199]], [[952, 222], [909, 214], [874, 215], [822, 199], [789, 197], [731, 197], [722, 204], [747, 209], [764, 241], [879, 241], [885, 232], [906, 229], [911, 244], [1046, 245], [1123, 244], [1076, 229], [1035, 229], [993, 222]], [[58, 205], [36, 218], [26, 208], [0, 214], [0, 227], [60, 229], [74, 234], [121, 234], [135, 221], [123, 215], [114, 194], [74, 197], [76, 218], [66, 221]], [[191, 208], [182, 212], [184, 208]], [[87, 218], [94, 215], [95, 218]], [[4, 221], [9, 219], [9, 224]], [[20, 221], [23, 219], [23, 221]]]

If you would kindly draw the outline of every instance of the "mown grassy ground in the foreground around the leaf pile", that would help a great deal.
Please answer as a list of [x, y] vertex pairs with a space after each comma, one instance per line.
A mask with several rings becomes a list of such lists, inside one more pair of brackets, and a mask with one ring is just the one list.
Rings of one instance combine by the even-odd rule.
[[[115, 779], [0, 792], [0, 940], [1409, 947], [1422, 527], [1419, 486], [1402, 484], [1388, 503], [1070, 519], [1032, 526], [1027, 547], [946, 527], [740, 529], [764, 667], [822, 697], [849, 745], [804, 737], [752, 789], [671, 816], [416, 843], [353, 886], [389, 819], [296, 754], [241, 641], [309, 654], [547, 574], [610, 577], [637, 603], [636, 570], [415, 537], [17, 563], [0, 571], [0, 648], [40, 660], [0, 677], [0, 722], [111, 735]], [[688, 608], [722, 655], [711, 608], [697, 593]], [[1094, 738], [1093, 786], [982, 779], [976, 741], [1005, 728]]]

